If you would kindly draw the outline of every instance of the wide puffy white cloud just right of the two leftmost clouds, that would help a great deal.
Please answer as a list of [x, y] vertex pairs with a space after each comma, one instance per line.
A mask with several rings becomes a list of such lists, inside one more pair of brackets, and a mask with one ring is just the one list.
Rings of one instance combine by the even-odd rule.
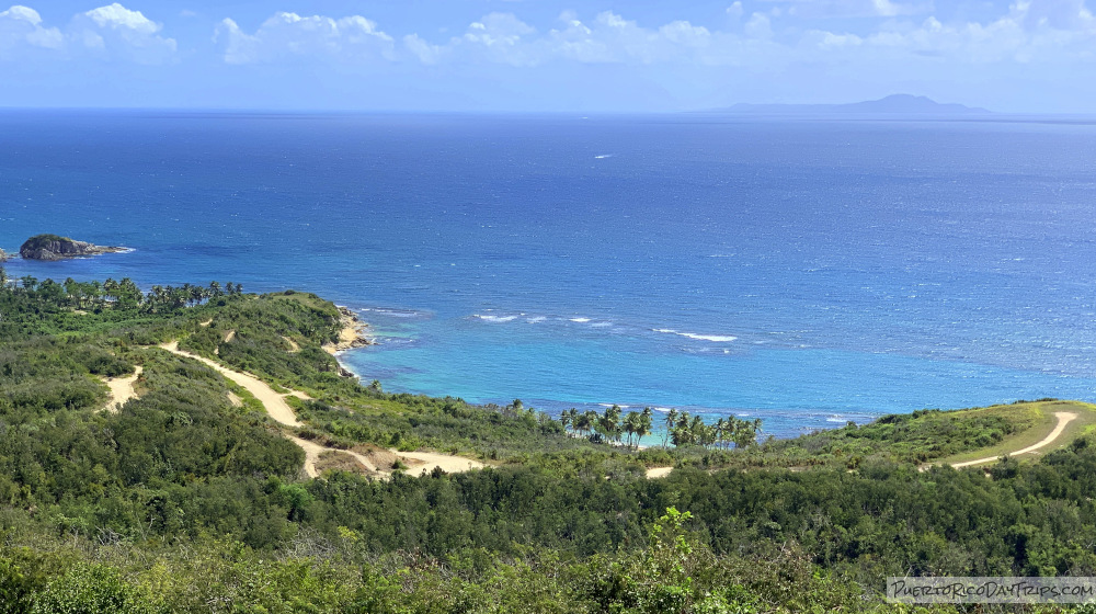
[[216, 39], [224, 45], [224, 58], [229, 64], [309, 56], [340, 61], [396, 57], [392, 37], [361, 15], [335, 20], [275, 13], [254, 34], [243, 32], [235, 21], [226, 19], [217, 26]]

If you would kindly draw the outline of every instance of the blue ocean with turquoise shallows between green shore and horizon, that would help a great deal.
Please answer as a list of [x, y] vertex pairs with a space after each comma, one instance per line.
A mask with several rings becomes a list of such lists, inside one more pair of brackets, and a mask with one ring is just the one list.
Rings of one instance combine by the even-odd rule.
[[297, 288], [385, 389], [764, 432], [1096, 400], [1096, 125], [0, 112], [11, 276]]

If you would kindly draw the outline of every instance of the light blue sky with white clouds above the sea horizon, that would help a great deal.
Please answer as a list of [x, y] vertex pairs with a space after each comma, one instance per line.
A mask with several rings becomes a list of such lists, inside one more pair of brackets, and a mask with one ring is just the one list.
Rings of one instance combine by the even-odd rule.
[[672, 112], [912, 93], [1096, 113], [1085, 0], [26, 2], [0, 4], [0, 106]]

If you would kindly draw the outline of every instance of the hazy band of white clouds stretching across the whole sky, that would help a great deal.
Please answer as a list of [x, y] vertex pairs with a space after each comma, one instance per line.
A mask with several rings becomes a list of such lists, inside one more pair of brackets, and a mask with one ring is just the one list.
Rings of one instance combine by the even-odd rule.
[[156, 4], [141, 12], [117, 2], [47, 23], [18, 4], [0, 12], [0, 62], [58, 75], [89, 61], [172, 66], [163, 79], [182, 75], [180, 83], [226, 98], [312, 89], [316, 100], [329, 91], [358, 101], [354, 88], [365, 86], [355, 83], [368, 82], [370, 95], [387, 91], [385, 104], [397, 107], [439, 93], [468, 107], [494, 94], [535, 103], [579, 83], [574, 75], [591, 94], [560, 100], [585, 104], [601, 92], [608, 107], [838, 102], [897, 91], [968, 94], [964, 102], [995, 106], [989, 94], [978, 98], [992, 91], [1086, 107], [1096, 96], [1096, 84], [1076, 78], [1096, 62], [1086, 0], [1003, 1], [959, 10], [934, 0], [732, 0], [690, 20], [671, 10], [659, 11], [670, 19], [652, 20], [639, 7], [534, 20], [528, 14], [544, 11], [513, 2], [452, 27], [402, 31], [368, 14], [233, 15]]

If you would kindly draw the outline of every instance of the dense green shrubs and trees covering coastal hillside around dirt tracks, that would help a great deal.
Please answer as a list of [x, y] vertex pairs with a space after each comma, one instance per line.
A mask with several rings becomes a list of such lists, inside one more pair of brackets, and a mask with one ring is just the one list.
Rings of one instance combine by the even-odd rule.
[[[658, 418], [585, 427], [343, 377], [321, 349], [339, 311], [312, 295], [25, 282], [0, 289], [0, 612], [890, 612], [891, 575], [1096, 575], [1091, 436], [989, 479], [918, 470], [1035, 406], [761, 445], [689, 418], [680, 448], [631, 450], [591, 439], [639, 444]], [[307, 437], [493, 467], [305, 479], [286, 430], [156, 346], [173, 340], [308, 393]], [[138, 365], [138, 397], [104, 411], [102, 378]], [[677, 469], [647, 479], [660, 464]]]

